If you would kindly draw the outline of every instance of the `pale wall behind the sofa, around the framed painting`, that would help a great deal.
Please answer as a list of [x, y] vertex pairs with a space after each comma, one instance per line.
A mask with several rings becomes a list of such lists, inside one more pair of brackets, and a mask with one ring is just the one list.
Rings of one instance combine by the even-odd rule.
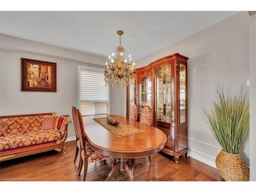
[[[20, 92], [20, 57], [57, 62], [57, 93]], [[82, 62], [77, 62], [82, 61]], [[104, 63], [105, 58], [0, 34], [0, 115], [57, 112], [77, 107], [78, 65]], [[75, 136], [73, 123], [68, 137]]]

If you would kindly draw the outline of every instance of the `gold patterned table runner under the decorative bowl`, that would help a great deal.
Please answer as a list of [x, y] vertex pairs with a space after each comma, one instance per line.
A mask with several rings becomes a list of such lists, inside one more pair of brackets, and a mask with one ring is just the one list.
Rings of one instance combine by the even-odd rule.
[[103, 126], [106, 130], [108, 130], [110, 133], [114, 134], [115, 136], [119, 137], [124, 137], [124, 136], [129, 136], [129, 135], [134, 135], [137, 133], [142, 133], [143, 131], [124, 124], [122, 122], [120, 122], [118, 125], [112, 125], [110, 123], [108, 123], [108, 121], [106, 120], [106, 117], [103, 118], [95, 118], [93, 119], [95, 120], [97, 123], [99, 123], [101, 126]]

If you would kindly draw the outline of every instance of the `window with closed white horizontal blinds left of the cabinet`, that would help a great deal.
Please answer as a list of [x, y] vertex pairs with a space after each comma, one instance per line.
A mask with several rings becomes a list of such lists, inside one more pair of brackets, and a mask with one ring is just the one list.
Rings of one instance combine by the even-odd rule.
[[82, 116], [108, 113], [108, 87], [103, 69], [78, 66], [78, 106]]

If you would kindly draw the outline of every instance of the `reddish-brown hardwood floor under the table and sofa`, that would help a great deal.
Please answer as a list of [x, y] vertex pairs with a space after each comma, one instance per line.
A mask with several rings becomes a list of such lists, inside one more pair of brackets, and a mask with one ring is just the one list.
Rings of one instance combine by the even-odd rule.
[[[75, 141], [65, 143], [66, 155], [57, 151], [31, 155], [23, 158], [1, 162], [0, 181], [81, 181], [82, 174], [77, 177], [77, 166], [73, 163]], [[151, 156], [152, 163], [147, 157], [136, 159], [135, 181], [221, 181], [217, 169], [193, 158], [180, 158], [176, 164], [170, 156], [158, 153]], [[111, 160], [90, 163], [86, 181], [102, 181], [111, 170]], [[129, 181], [126, 172], [119, 172], [112, 181]]]

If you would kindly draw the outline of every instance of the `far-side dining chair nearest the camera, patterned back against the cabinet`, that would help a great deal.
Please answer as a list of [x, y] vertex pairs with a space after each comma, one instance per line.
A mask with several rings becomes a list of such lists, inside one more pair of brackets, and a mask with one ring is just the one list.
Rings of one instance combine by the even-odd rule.
[[[137, 109], [137, 108], [136, 108]], [[144, 106], [140, 114], [140, 123], [150, 126], [152, 119], [152, 111], [150, 106]], [[148, 156], [148, 160], [151, 162], [151, 156]], [[132, 159], [132, 172], [134, 173], [135, 159]]]

